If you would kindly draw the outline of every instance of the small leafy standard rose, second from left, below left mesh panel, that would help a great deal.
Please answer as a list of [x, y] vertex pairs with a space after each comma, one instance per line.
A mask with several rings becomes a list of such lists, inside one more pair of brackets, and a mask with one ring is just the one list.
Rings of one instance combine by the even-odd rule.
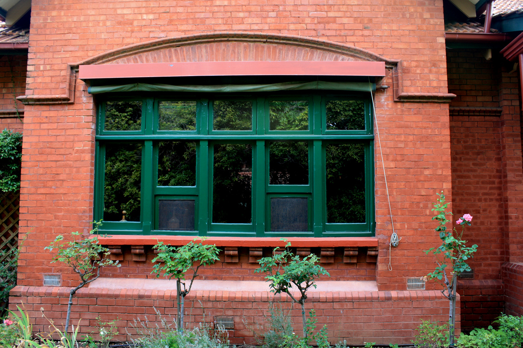
[[[206, 238], [202, 238], [204, 241]], [[195, 241], [197, 238], [195, 238]], [[185, 296], [191, 291], [192, 282], [198, 275], [198, 270], [202, 266], [212, 265], [219, 260], [218, 254], [220, 250], [211, 244], [203, 245], [200, 243], [189, 242], [180, 247], [170, 246], [163, 242], [158, 242], [154, 246], [158, 250], [158, 256], [153, 259], [156, 263], [151, 273], [156, 273], [156, 277], [160, 277], [163, 273], [164, 277], [168, 279], [176, 278], [176, 296], [178, 298], [178, 321], [177, 328], [179, 331], [184, 328], [184, 300]], [[185, 285], [185, 273], [192, 271], [192, 277], [189, 282], [189, 287]]]

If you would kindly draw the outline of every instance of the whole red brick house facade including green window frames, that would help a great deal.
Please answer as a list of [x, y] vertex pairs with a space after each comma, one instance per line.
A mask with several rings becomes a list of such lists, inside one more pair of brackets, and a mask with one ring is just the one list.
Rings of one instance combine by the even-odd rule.
[[[214, 316], [232, 316], [232, 343], [252, 342], [249, 323], [258, 320], [269, 301], [281, 299], [290, 305], [285, 296], [270, 294], [263, 277], [254, 273], [257, 257], [269, 255], [272, 248], [281, 246], [279, 237], [288, 236], [299, 253], [319, 254], [322, 266], [331, 273], [330, 278], [319, 280], [307, 306], [316, 309], [319, 324], [327, 325], [333, 343], [343, 339], [349, 344], [409, 343], [420, 320], [445, 321], [448, 316], [448, 302], [438, 285], [407, 289], [407, 280], [434, 269], [434, 257], [423, 250], [439, 245], [430, 218], [440, 191], [452, 202], [456, 215], [474, 216], [465, 239], [479, 245], [471, 261], [473, 278], [460, 280], [463, 328], [485, 325], [501, 311], [521, 314], [521, 88], [519, 70], [499, 53], [516, 35], [503, 34], [504, 39], [494, 43], [484, 37], [481, 45], [470, 47], [463, 44], [467, 40], [458, 38], [451, 47], [444, 7], [459, 13], [453, 6], [438, 0], [363, 5], [338, 0], [328, 4], [33, 0], [27, 56], [6, 54], [0, 58], [6, 116], [0, 117], [0, 124], [24, 134], [20, 189], [20, 237], [24, 244], [11, 305], [24, 303], [36, 331], [47, 327], [40, 308], [55, 323], [65, 320], [68, 288], [77, 283], [76, 276], [59, 263], [50, 263], [52, 254], [43, 248], [58, 234], [86, 233], [94, 219], [104, 218], [100, 208], [104, 205], [104, 175], [100, 174], [104, 166], [100, 161], [104, 153], [107, 161], [107, 149], [114, 141], [127, 141], [118, 138], [119, 133], [111, 138], [107, 123], [101, 125], [109, 103], [132, 97], [143, 99], [145, 104], [151, 100], [153, 105], [155, 98], [170, 100], [189, 93], [147, 92], [136, 86], [130, 92], [104, 88], [135, 83], [244, 88], [326, 81], [332, 83], [327, 90], [274, 93], [291, 99], [306, 95], [311, 105], [325, 105], [334, 98], [331, 95], [338, 99], [346, 98], [339, 95], [351, 95], [367, 105], [366, 115], [372, 121], [364, 127], [368, 134], [358, 133], [358, 141], [364, 143], [369, 162], [365, 167], [370, 175], [365, 191], [365, 219], [369, 221], [359, 230], [350, 230], [353, 227], [348, 224], [336, 232], [330, 230], [322, 208], [323, 174], [314, 174], [314, 170], [322, 163], [325, 150], [321, 149], [331, 144], [329, 141], [348, 141], [357, 132], [329, 133], [328, 127], [325, 130], [321, 125], [323, 111], [311, 111], [311, 133], [300, 135], [300, 141], [309, 141], [312, 149], [311, 188], [295, 188], [294, 196], [288, 194], [311, 201], [312, 212], [307, 214], [312, 222], [305, 231], [311, 233], [270, 233], [264, 226], [276, 224], [276, 218], [268, 212], [269, 203], [266, 208], [259, 204], [253, 208], [255, 216], [247, 223], [252, 231], [241, 235], [236, 233], [237, 226], [226, 231], [227, 226], [210, 217], [213, 208], [208, 193], [212, 194], [212, 188], [198, 191], [196, 209], [201, 219], [192, 230], [210, 235], [209, 242], [222, 248], [222, 253], [219, 262], [202, 270], [203, 282], [187, 297], [189, 325], [203, 317], [212, 321]], [[4, 48], [3, 52], [14, 50]], [[484, 50], [491, 50], [490, 60], [484, 58]], [[19, 85], [24, 77], [25, 90]], [[332, 87], [342, 85], [349, 86], [349, 91]], [[368, 91], [356, 90], [362, 85]], [[155, 93], [163, 93], [163, 97]], [[229, 98], [218, 91], [190, 93], [198, 100], [198, 117], [207, 117], [200, 113], [206, 105], [203, 100]], [[274, 93], [241, 93], [242, 98], [248, 94], [245, 98], [259, 103], [261, 98], [277, 99], [272, 97]], [[153, 125], [154, 107], [143, 109], [142, 133], [138, 130], [132, 140], [143, 147], [142, 168], [155, 159], [147, 149], [157, 151], [155, 139], [162, 134], [161, 128]], [[260, 144], [268, 144], [273, 138], [267, 136], [276, 134], [271, 133], [272, 126], [263, 130], [261, 119], [255, 122], [265, 133], [236, 138], [265, 146], [259, 155], [265, 150], [269, 153], [269, 145]], [[226, 139], [212, 138], [212, 131], [194, 136], [199, 153], [204, 153], [207, 141]], [[259, 161], [258, 167], [264, 163]], [[197, 164], [199, 170], [207, 168], [203, 163]], [[258, 173], [264, 175], [259, 168]], [[201, 172], [198, 175], [196, 186], [203, 186]], [[142, 174], [142, 183], [146, 180]], [[256, 176], [252, 185], [262, 180]], [[113, 227], [107, 227], [112, 236], [100, 238], [122, 267], [107, 268], [102, 278], [77, 293], [73, 323], [82, 318], [81, 332], [89, 332], [98, 314], [103, 319], [118, 317], [118, 338], [125, 340], [124, 328], [137, 316], [158, 320], [155, 310], [162, 315], [176, 313], [175, 285], [150, 274], [152, 246], [157, 239], [180, 245], [192, 237], [187, 236], [190, 233], [166, 235], [154, 216], [160, 209], [159, 200], [166, 195], [194, 194], [179, 194], [174, 189], [171, 193], [154, 186], [150, 191], [142, 187], [142, 210], [135, 224], [121, 227], [124, 225], [118, 225], [118, 220], [112, 220], [108, 225]], [[269, 184], [258, 186], [253, 205], [263, 205], [279, 194], [271, 191]], [[260, 199], [260, 194], [266, 198]], [[147, 209], [152, 216], [149, 220]], [[389, 246], [393, 229], [401, 237], [397, 248]], [[60, 286], [44, 286], [46, 274], [59, 274]]]

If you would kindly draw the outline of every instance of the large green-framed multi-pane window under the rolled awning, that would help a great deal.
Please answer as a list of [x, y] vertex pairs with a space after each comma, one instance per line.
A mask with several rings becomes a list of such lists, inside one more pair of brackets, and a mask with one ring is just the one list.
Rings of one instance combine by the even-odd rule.
[[108, 234], [373, 234], [362, 95], [105, 96], [95, 219]]

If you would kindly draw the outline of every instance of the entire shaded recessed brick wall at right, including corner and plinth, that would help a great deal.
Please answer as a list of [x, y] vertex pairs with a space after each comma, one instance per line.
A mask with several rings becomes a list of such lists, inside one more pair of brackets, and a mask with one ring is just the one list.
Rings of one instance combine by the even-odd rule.
[[447, 65], [457, 95], [450, 103], [454, 218], [474, 216], [463, 236], [480, 246], [469, 262], [474, 280], [459, 285], [462, 329], [471, 330], [504, 311], [511, 295], [503, 297], [502, 265], [520, 260], [519, 89], [517, 72], [508, 73], [499, 56], [486, 61], [482, 50], [448, 50]]

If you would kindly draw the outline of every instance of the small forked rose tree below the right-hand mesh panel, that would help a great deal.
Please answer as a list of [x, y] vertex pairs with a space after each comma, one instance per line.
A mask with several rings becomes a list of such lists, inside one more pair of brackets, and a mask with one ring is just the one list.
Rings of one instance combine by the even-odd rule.
[[[283, 240], [285, 241], [285, 239]], [[330, 274], [317, 265], [319, 259], [316, 255], [311, 254], [301, 259], [300, 256], [292, 253], [290, 247], [290, 242], [287, 242], [283, 250], [275, 248], [272, 256], [261, 258], [258, 261], [260, 268], [255, 272], [268, 273], [265, 279], [270, 282], [271, 292], [286, 293], [292, 301], [301, 305], [303, 338], [307, 342], [307, 320], [305, 318], [307, 291], [311, 286], [316, 287], [315, 280], [320, 278], [320, 275], [326, 274], [330, 277]], [[291, 293], [292, 285], [300, 291], [300, 297], [295, 297]]]

